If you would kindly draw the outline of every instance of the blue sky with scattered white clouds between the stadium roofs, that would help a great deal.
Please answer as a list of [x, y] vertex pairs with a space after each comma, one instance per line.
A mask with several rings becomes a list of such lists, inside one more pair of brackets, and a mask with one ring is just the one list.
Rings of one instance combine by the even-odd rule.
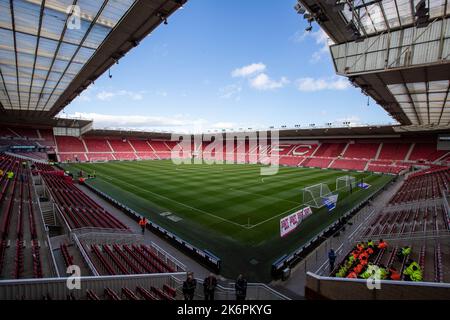
[[296, 0], [190, 0], [66, 109], [96, 127], [172, 131], [388, 123], [339, 78]]

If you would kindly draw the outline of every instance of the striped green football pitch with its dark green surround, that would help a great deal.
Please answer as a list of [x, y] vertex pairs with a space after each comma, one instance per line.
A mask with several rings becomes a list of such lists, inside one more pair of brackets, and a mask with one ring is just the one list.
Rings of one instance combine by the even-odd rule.
[[[268, 281], [271, 264], [309, 241], [391, 176], [329, 169], [280, 167], [261, 176], [256, 164], [183, 164], [170, 160], [65, 165], [75, 175], [95, 171], [87, 183], [222, 260], [224, 276], [244, 273]], [[323, 207], [286, 237], [280, 219], [304, 207], [302, 189], [351, 175], [371, 187], [339, 191], [335, 210]]]

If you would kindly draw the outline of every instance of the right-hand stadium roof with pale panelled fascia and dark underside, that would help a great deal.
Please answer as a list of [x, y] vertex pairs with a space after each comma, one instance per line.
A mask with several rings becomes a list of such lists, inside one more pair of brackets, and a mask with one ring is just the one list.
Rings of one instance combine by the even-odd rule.
[[334, 41], [338, 74], [400, 124], [450, 125], [450, 1], [300, 2]]

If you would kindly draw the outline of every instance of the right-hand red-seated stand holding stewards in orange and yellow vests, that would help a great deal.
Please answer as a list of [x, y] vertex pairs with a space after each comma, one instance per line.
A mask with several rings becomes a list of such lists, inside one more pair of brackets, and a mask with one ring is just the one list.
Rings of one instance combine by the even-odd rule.
[[331, 276], [448, 282], [441, 244], [450, 232], [450, 219], [441, 199], [448, 194], [449, 184], [448, 167], [432, 166], [410, 174], [389, 206], [363, 226], [360, 241], [347, 251]]

